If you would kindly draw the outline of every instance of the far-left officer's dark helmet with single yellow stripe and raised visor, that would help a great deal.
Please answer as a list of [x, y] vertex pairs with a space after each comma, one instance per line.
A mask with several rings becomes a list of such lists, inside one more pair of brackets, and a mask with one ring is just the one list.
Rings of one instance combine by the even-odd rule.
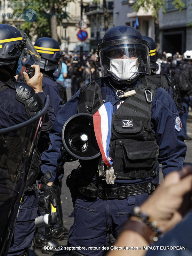
[[[31, 55], [35, 61], [41, 60], [24, 31], [10, 25], [0, 24], [0, 66], [4, 66], [11, 75], [14, 75], [19, 58], [28, 55]], [[11, 64], [16, 64], [13, 69], [9, 67]]]

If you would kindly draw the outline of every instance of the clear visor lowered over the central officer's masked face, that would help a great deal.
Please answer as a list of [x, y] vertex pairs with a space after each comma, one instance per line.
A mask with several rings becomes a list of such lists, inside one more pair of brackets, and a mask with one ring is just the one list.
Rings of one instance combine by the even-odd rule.
[[145, 44], [120, 44], [99, 49], [102, 76], [150, 74], [149, 48]]

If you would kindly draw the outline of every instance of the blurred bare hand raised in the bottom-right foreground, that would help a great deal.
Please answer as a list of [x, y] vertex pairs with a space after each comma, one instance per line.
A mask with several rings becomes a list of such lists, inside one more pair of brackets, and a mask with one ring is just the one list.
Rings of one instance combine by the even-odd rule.
[[162, 232], [173, 228], [191, 207], [192, 166], [168, 174], [159, 188], [141, 206]]

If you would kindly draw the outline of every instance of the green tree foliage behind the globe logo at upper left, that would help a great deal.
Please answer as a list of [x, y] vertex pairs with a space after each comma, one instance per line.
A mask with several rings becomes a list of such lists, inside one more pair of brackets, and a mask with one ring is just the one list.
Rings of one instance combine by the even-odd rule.
[[[23, 22], [19, 28], [24, 30], [28, 36], [34, 36], [35, 34], [39, 37], [52, 36], [52, 30], [56, 33], [57, 25], [64, 18], [68, 18], [67, 13], [65, 12], [65, 7], [70, 0], [33, 0], [31, 2], [27, 1], [14, 1], [12, 2], [13, 14], [22, 13], [26, 9], [33, 9], [37, 13], [37, 18], [34, 22]], [[53, 15], [54, 14], [54, 15]], [[14, 18], [14, 16], [13, 16]], [[55, 19], [56, 18], [56, 19]], [[54, 27], [51, 26], [51, 20], [54, 22]], [[53, 23], [53, 22], [52, 22]], [[52, 29], [51, 29], [52, 28]], [[54, 38], [57, 40], [57, 38]]]

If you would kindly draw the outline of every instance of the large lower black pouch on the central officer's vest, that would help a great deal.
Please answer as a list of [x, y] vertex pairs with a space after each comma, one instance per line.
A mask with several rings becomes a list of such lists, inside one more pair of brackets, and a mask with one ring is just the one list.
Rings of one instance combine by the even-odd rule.
[[137, 178], [153, 176], [158, 155], [156, 141], [116, 140], [114, 170], [118, 172], [118, 178], [130, 179], [131, 176], [135, 179], [133, 172], [137, 173]]

